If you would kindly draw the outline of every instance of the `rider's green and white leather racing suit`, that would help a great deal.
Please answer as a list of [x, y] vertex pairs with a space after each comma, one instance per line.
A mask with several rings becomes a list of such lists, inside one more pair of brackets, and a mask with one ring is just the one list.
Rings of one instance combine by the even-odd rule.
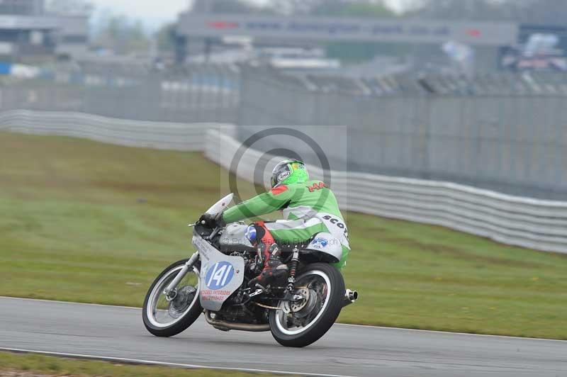
[[283, 210], [283, 218], [264, 226], [278, 244], [297, 244], [319, 232], [329, 232], [339, 240], [342, 257], [335, 266], [342, 269], [349, 255], [349, 233], [335, 194], [322, 181], [309, 180], [280, 185], [250, 198], [223, 213], [225, 223], [254, 218]]

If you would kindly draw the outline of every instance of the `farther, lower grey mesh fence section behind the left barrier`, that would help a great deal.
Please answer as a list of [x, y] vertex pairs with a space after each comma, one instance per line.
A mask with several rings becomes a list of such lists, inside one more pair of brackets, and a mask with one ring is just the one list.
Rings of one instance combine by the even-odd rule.
[[45, 79], [0, 87], [0, 109], [81, 111], [133, 120], [234, 122], [239, 69], [191, 65], [160, 72], [139, 65], [87, 64], [56, 69]]

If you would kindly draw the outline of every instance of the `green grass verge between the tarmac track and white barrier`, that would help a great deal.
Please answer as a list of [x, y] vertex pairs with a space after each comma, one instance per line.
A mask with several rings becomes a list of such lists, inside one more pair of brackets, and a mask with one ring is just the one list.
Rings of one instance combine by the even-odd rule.
[[[0, 295], [140, 306], [225, 194], [196, 153], [0, 133]], [[247, 193], [252, 188], [248, 185]], [[567, 339], [567, 256], [347, 213], [341, 322]]]

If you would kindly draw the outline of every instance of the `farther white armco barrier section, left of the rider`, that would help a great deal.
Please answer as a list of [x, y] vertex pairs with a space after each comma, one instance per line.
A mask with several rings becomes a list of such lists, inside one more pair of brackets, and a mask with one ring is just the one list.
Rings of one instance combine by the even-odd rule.
[[216, 123], [147, 122], [62, 111], [13, 110], [0, 113], [0, 130], [84, 137], [161, 150], [203, 150], [206, 130], [217, 126]]

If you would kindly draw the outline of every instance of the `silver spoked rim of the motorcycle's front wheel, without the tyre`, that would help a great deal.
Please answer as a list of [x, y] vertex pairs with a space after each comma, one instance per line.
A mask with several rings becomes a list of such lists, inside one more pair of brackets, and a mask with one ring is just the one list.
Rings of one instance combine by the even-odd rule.
[[175, 276], [184, 268], [181, 264], [174, 269], [167, 271], [162, 278], [157, 281], [150, 298], [147, 300], [146, 315], [150, 323], [155, 327], [169, 327], [179, 322], [195, 305], [199, 297], [199, 273], [193, 267], [193, 271], [187, 274], [177, 284], [176, 292], [172, 300], [168, 300], [163, 291]]

